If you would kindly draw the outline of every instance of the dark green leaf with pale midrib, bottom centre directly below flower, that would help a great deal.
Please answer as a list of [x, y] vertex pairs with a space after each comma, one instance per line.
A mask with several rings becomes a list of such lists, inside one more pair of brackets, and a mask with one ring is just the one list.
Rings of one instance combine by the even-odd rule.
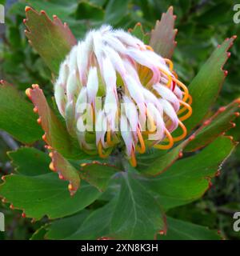
[[133, 174], [122, 173], [122, 186], [111, 220], [111, 237], [154, 239], [166, 230], [159, 202]]

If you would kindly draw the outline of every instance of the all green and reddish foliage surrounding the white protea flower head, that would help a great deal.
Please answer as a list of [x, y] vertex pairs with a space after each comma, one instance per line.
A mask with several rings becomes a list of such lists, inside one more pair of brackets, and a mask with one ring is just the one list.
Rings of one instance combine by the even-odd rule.
[[[172, 7], [167, 10], [170, 2], [178, 14], [175, 25]], [[12, 232], [11, 222], [19, 228], [6, 238], [30, 238], [31, 233], [32, 239], [220, 239], [216, 230], [237, 238], [229, 228], [232, 216], [226, 214], [239, 210], [239, 204], [229, 203], [240, 199], [239, 147], [229, 166], [222, 167], [240, 138], [238, 129], [230, 129], [235, 121], [240, 125], [239, 119], [234, 121], [239, 110], [235, 98], [240, 96], [238, 41], [234, 46], [235, 37], [223, 41], [239, 31], [231, 10], [230, 2], [223, 0], [29, 0], [10, 7], [0, 45], [0, 129], [20, 147], [11, 150], [9, 140], [1, 141], [0, 163], [8, 161], [1, 150], [11, 150], [12, 167], [3, 168], [0, 195], [7, 229]], [[155, 23], [162, 12], [166, 14]], [[76, 39], [103, 22], [131, 28], [130, 33], [159, 54], [173, 55], [193, 96], [188, 138], [171, 150], [148, 150], [138, 156], [136, 168], [122, 158], [102, 160], [79, 150], [51, 100], [62, 59]], [[222, 88], [230, 46], [230, 75]], [[42, 89], [34, 85], [26, 90], [32, 82]], [[24, 98], [24, 90], [33, 104]], [[222, 105], [227, 106], [219, 108]], [[206, 194], [221, 169], [214, 190]], [[26, 219], [19, 220], [20, 214]], [[30, 224], [28, 218], [37, 222]]]

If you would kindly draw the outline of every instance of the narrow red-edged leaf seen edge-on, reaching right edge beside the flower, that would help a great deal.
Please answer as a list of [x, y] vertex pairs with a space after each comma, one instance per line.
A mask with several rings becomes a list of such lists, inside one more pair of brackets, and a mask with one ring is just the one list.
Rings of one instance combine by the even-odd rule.
[[[185, 141], [181, 142], [178, 146], [169, 150], [168, 152], [155, 153], [146, 158], [145, 162], [141, 162], [138, 166], [138, 170], [142, 174], [158, 175], [162, 174], [174, 162], [181, 157], [183, 152], [198, 150], [203, 146], [213, 142], [215, 138], [226, 132], [230, 128], [233, 128], [232, 121], [236, 118], [236, 112], [239, 109], [239, 101], [235, 100], [231, 102], [226, 108], [220, 108], [214, 116], [212, 116], [207, 122], [204, 122], [202, 126], [198, 128]], [[224, 110], [224, 111], [222, 111]], [[150, 164], [148, 163], [150, 161]]]

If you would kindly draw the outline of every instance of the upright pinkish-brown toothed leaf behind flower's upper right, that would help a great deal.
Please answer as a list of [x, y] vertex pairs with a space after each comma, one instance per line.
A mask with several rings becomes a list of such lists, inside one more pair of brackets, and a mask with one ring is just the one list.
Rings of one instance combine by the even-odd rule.
[[170, 6], [166, 14], [162, 14], [160, 22], [156, 22], [155, 28], [150, 35], [150, 46], [163, 58], [171, 58], [177, 44], [174, 41], [178, 31], [174, 30], [175, 18], [174, 8]]

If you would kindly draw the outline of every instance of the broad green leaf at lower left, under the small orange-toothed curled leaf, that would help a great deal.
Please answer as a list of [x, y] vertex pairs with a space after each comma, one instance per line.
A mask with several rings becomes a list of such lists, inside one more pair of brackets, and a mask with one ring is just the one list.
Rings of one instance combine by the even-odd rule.
[[58, 179], [54, 173], [38, 176], [7, 175], [0, 186], [0, 195], [10, 202], [14, 209], [23, 210], [26, 217], [36, 220], [47, 215], [62, 218], [89, 206], [100, 193], [82, 182], [81, 188], [70, 196], [67, 182]]

